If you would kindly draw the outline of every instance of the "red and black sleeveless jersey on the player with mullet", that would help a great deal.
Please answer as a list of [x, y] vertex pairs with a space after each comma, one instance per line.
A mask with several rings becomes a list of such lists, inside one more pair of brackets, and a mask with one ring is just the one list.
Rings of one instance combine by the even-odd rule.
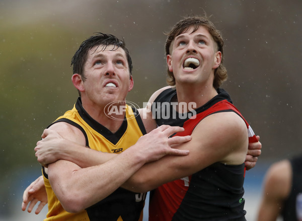
[[[158, 125], [169, 124], [185, 128], [177, 136], [191, 135], [195, 126], [208, 115], [219, 112], [235, 112], [244, 121], [238, 109], [231, 103], [228, 93], [218, 89], [218, 95], [201, 107], [195, 113], [187, 116], [179, 115], [172, 104], [165, 103], [163, 108], [170, 117], [157, 119]], [[176, 96], [175, 89], [163, 91], [154, 101], [153, 114], [162, 109], [163, 102], [171, 103]], [[174, 112], [174, 113], [173, 113]], [[173, 117], [172, 117], [173, 116]], [[254, 132], [245, 121], [250, 140], [256, 142]], [[223, 133], [223, 131], [221, 131]], [[246, 220], [244, 210], [244, 163], [228, 165], [220, 162], [182, 179], [167, 183], [157, 188], [149, 205], [149, 221], [169, 220]]]

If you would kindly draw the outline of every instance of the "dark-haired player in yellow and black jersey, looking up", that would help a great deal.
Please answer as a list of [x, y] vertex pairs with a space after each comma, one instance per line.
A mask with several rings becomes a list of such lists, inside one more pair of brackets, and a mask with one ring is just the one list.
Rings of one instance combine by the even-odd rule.
[[[91, 36], [75, 52], [71, 64], [71, 80], [80, 98], [49, 129], [60, 138], [98, 152], [117, 149], [120, 154], [100, 153], [105, 155], [104, 163], [89, 168], [68, 160], [43, 167], [48, 200], [45, 220], [139, 220], [143, 193], [118, 188], [146, 162], [167, 154], [187, 155], [188, 151], [171, 145], [187, 142], [190, 136], [169, 138], [183, 131], [181, 127], [163, 126], [151, 131], [155, 124], [150, 121], [142, 126], [138, 113], [134, 116], [125, 104], [133, 79], [131, 58], [122, 40], [103, 33]], [[112, 101], [118, 101], [115, 107], [121, 111], [108, 117], [105, 107]], [[146, 132], [150, 133], [142, 136]], [[88, 192], [93, 193], [89, 200]]]

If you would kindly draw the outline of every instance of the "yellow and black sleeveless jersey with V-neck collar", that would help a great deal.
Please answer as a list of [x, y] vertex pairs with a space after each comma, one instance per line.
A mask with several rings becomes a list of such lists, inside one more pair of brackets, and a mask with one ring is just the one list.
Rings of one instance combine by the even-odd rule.
[[[86, 145], [92, 149], [108, 153], [120, 153], [134, 145], [145, 134], [141, 118], [135, 108], [126, 106], [125, 120], [116, 133], [91, 118], [82, 106], [81, 98], [74, 107], [59, 117], [54, 123], [66, 122], [79, 128], [86, 138]], [[54, 124], [53, 123], [53, 124]], [[122, 188], [79, 213], [65, 211], [49, 184], [43, 168], [43, 178], [48, 199], [48, 220], [98, 220], [98, 221], [137, 221], [142, 220], [145, 193], [134, 193]]]

